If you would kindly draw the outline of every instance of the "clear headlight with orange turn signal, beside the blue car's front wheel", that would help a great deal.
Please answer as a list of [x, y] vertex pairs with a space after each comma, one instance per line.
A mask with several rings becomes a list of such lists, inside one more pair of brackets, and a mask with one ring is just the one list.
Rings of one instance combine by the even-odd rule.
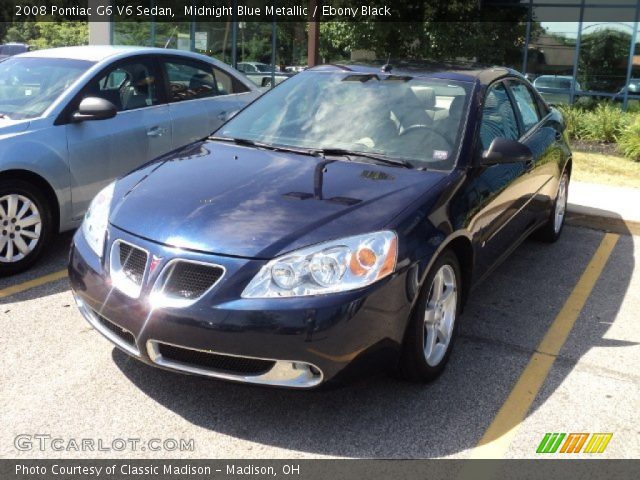
[[244, 298], [303, 297], [362, 288], [393, 273], [394, 232], [320, 243], [271, 260], [249, 282]]

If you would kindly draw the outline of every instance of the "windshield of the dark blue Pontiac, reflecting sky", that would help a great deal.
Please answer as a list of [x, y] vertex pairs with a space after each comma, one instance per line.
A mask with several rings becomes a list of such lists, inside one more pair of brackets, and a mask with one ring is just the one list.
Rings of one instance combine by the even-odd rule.
[[426, 76], [306, 71], [260, 97], [216, 135], [450, 169], [471, 86]]

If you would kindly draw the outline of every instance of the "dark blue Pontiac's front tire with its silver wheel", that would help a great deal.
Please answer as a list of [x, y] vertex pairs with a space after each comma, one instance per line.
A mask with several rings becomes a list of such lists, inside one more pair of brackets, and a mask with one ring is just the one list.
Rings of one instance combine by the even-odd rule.
[[[437, 278], [444, 281], [440, 283], [443, 288], [439, 300], [434, 296]], [[398, 368], [402, 378], [426, 383], [435, 380], [443, 372], [458, 333], [462, 309], [461, 285], [458, 258], [451, 250], [445, 250], [427, 274], [409, 321]], [[448, 300], [440, 305], [443, 299]], [[441, 325], [441, 328], [438, 329], [436, 325]]]

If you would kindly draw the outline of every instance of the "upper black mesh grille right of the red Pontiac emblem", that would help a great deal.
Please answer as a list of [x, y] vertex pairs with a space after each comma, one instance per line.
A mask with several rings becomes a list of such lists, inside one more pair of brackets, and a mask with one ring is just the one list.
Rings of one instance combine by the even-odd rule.
[[169, 270], [163, 293], [171, 298], [194, 300], [220, 280], [223, 273], [216, 265], [177, 261]]

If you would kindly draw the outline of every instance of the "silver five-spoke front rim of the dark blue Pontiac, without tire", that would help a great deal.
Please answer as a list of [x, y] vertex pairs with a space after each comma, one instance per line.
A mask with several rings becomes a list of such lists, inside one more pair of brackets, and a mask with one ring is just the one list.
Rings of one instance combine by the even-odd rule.
[[423, 351], [431, 367], [440, 364], [451, 343], [457, 295], [455, 270], [451, 265], [442, 265], [433, 277], [424, 314]]

